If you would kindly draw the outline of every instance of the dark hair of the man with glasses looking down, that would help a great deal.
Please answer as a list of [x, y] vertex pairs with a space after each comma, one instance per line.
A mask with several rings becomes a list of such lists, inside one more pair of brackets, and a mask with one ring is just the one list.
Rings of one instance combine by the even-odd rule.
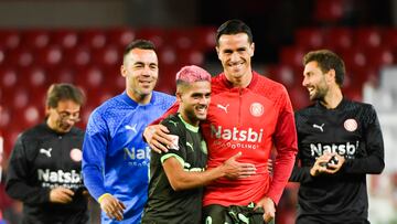
[[52, 84], [46, 94], [46, 106], [51, 108], [56, 108], [61, 100], [71, 99], [78, 105], [85, 104], [85, 95], [83, 90], [72, 84], [60, 83]]

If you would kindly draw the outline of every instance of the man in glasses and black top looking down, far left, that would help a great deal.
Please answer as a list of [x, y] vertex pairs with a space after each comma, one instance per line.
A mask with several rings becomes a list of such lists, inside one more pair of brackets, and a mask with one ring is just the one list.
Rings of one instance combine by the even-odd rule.
[[74, 127], [84, 102], [82, 90], [75, 86], [52, 85], [46, 96], [45, 121], [17, 139], [6, 191], [23, 202], [24, 224], [88, 221], [81, 162], [84, 132]]

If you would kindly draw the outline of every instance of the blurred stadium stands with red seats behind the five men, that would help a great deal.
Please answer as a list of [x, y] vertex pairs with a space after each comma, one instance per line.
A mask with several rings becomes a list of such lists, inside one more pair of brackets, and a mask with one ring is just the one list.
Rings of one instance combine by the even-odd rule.
[[[85, 89], [88, 102], [78, 124], [84, 128], [96, 106], [124, 90], [119, 65], [128, 42], [142, 38], [155, 43], [157, 89], [173, 94], [175, 72], [183, 65], [222, 71], [214, 34], [228, 19], [242, 19], [253, 29], [254, 68], [283, 83], [294, 109], [309, 104], [301, 86], [303, 54], [328, 47], [344, 58], [345, 95], [374, 104], [385, 138], [385, 172], [368, 178], [371, 220], [397, 223], [394, 0], [0, 0], [2, 172], [18, 134], [43, 120], [43, 97], [52, 83]], [[17, 223], [21, 206], [4, 195], [2, 183], [0, 212]], [[277, 223], [293, 223], [297, 188], [288, 185]]]

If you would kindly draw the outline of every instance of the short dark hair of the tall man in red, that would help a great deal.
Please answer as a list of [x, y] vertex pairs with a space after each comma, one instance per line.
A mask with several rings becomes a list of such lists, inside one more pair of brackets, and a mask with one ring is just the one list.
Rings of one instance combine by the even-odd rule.
[[219, 39], [222, 35], [237, 34], [237, 33], [246, 33], [248, 35], [248, 42], [253, 43], [253, 32], [250, 28], [240, 20], [228, 20], [224, 22], [216, 31], [216, 45], [219, 45]]

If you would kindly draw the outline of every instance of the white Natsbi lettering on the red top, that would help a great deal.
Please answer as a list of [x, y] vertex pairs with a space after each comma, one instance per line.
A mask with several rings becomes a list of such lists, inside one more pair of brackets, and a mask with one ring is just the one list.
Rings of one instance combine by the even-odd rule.
[[211, 137], [224, 140], [235, 140], [235, 141], [248, 141], [248, 142], [261, 142], [264, 136], [264, 129], [260, 129], [259, 132], [255, 131], [253, 128], [238, 129], [234, 127], [233, 129], [223, 128], [222, 126], [214, 127], [211, 125]]

